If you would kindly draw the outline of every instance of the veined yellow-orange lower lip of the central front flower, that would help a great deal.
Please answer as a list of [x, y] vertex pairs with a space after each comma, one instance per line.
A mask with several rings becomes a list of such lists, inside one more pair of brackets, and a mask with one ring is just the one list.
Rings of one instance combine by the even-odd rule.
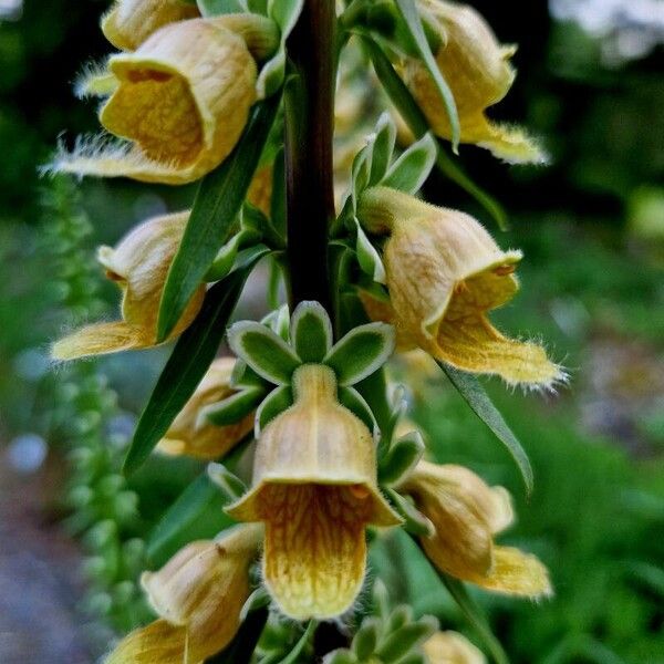
[[364, 580], [364, 529], [372, 513], [363, 487], [263, 487], [263, 577], [294, 620], [326, 620], [351, 608]]

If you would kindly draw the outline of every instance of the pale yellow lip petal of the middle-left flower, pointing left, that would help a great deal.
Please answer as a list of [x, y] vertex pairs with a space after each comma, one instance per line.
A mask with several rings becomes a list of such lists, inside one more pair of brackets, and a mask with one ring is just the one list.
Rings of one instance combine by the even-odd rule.
[[76, 360], [89, 355], [103, 355], [118, 351], [144, 349], [152, 345], [142, 328], [124, 322], [86, 325], [51, 346], [54, 360]]

